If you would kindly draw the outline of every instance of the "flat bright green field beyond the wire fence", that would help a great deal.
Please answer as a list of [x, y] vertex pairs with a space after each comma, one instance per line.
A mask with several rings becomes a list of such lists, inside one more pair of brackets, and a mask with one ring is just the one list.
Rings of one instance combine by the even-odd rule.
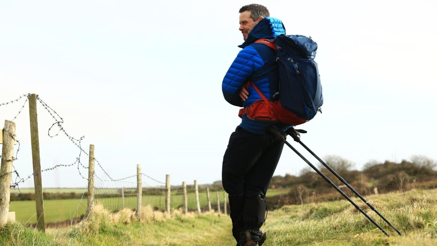
[[[25, 193], [21, 189], [22, 193]], [[63, 192], [61, 192], [61, 190]], [[79, 190], [79, 189], [77, 189]], [[59, 193], [67, 193], [67, 192], [75, 192], [75, 189], [46, 189], [44, 192], [59, 192]], [[114, 189], [114, 193], [115, 193]], [[80, 192], [83, 193], [84, 190], [80, 189]], [[286, 193], [288, 190], [269, 190], [267, 193], [268, 196], [273, 196], [281, 193]], [[217, 205], [217, 193], [211, 192], [211, 204], [212, 207], [216, 207]], [[87, 197], [84, 197], [82, 200], [82, 205], [78, 206], [80, 203], [80, 199], [64, 199], [64, 200], [44, 200], [44, 214], [45, 214], [45, 222], [57, 222], [57, 221], [65, 221], [72, 218], [74, 212], [77, 211], [79, 213], [76, 216], [80, 216], [85, 213], [85, 207], [87, 206]], [[223, 204], [224, 199], [224, 191], [219, 192], [219, 199], [221, 204]], [[226, 197], [227, 199], [227, 197]], [[118, 211], [123, 208], [121, 197], [112, 197], [112, 198], [99, 198], [96, 196], [96, 200], [103, 204], [108, 210]], [[201, 207], [205, 207], [208, 205], [206, 192], [199, 193], [199, 203]], [[172, 196], [170, 199], [170, 206], [172, 208], [182, 207], [184, 204], [184, 195], [181, 193], [177, 193], [177, 191], [172, 192]], [[187, 204], [189, 210], [197, 210], [196, 197], [195, 193], [187, 194]], [[137, 198], [136, 195], [126, 195], [125, 196], [125, 207], [136, 208]], [[150, 205], [152, 207], [159, 208], [160, 210], [165, 210], [165, 193], [162, 195], [146, 195], [142, 197], [142, 205]], [[223, 205], [221, 205], [223, 206]], [[34, 224], [37, 221], [36, 218], [36, 207], [35, 201], [12, 201], [10, 203], [9, 211], [15, 211], [15, 216], [17, 221]]]

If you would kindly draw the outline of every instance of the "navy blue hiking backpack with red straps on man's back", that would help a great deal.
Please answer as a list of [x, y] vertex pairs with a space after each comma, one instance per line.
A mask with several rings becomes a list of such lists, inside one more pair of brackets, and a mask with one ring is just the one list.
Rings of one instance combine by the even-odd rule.
[[[314, 61], [317, 43], [302, 35], [284, 34], [277, 36], [274, 42], [269, 39], [255, 42], [264, 43], [277, 53], [279, 100], [267, 103], [275, 118], [294, 126], [314, 118], [323, 105], [319, 69]], [[262, 93], [260, 95], [267, 100]]]

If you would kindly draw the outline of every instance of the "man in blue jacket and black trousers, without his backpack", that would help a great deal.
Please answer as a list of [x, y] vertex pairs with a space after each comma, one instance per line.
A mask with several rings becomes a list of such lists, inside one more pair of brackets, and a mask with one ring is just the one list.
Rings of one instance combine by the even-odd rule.
[[[258, 39], [271, 39], [284, 34], [282, 22], [270, 18], [266, 7], [259, 4], [239, 10], [239, 30], [245, 42], [229, 67], [223, 82], [225, 100], [232, 105], [248, 107], [261, 98], [248, 81], [252, 81], [269, 100], [277, 101], [279, 94], [276, 51]], [[246, 114], [231, 134], [223, 157], [222, 183], [229, 194], [232, 235], [237, 246], [258, 246], [266, 239], [260, 231], [265, 221], [267, 188], [281, 156], [284, 142], [266, 132], [267, 127], [281, 130], [291, 127], [273, 121], [255, 121]]]

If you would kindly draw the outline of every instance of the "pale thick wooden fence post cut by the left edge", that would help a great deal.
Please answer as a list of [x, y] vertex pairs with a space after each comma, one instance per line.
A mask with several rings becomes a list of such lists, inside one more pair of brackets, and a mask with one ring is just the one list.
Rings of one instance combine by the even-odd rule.
[[10, 179], [14, 162], [15, 123], [5, 120], [4, 129], [0, 168], [0, 224], [5, 224], [9, 215]]

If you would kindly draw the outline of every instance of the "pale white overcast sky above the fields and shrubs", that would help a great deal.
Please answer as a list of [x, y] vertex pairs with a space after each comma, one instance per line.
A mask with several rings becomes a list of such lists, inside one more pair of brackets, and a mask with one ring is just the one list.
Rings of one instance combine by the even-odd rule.
[[[160, 181], [170, 174], [173, 185], [220, 180], [240, 121], [221, 83], [243, 42], [239, 8], [251, 3], [3, 0], [0, 103], [38, 94], [69, 134], [85, 136], [86, 150], [96, 146], [113, 179], [134, 175], [141, 164]], [[303, 143], [356, 169], [372, 159], [437, 159], [436, 1], [257, 3], [284, 22], [287, 34], [319, 44], [323, 114], [297, 127], [309, 132]], [[0, 120], [14, 118], [23, 103], [0, 106]], [[42, 169], [74, 162], [79, 153], [66, 137], [47, 136], [54, 122], [40, 104], [38, 117]], [[26, 104], [15, 120], [21, 176], [32, 172], [28, 120]], [[305, 167], [285, 146], [275, 175], [299, 175]], [[101, 169], [97, 175], [104, 178]], [[20, 187], [27, 186], [33, 182]], [[84, 186], [77, 167], [43, 173], [43, 187]]]

